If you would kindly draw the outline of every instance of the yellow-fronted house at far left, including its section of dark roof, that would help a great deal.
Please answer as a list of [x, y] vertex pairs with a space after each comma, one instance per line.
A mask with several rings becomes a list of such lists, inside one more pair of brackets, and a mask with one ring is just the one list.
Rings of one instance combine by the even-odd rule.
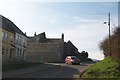
[[1, 18], [1, 42], [2, 42], [2, 62], [10, 62], [13, 60], [13, 55], [15, 51], [14, 46], [14, 31], [8, 24]]

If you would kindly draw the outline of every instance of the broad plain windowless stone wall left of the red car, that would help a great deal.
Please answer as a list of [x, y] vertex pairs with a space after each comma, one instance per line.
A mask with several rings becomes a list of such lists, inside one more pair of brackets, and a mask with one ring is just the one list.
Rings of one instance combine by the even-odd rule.
[[26, 61], [58, 62], [63, 55], [63, 43], [29, 43]]

